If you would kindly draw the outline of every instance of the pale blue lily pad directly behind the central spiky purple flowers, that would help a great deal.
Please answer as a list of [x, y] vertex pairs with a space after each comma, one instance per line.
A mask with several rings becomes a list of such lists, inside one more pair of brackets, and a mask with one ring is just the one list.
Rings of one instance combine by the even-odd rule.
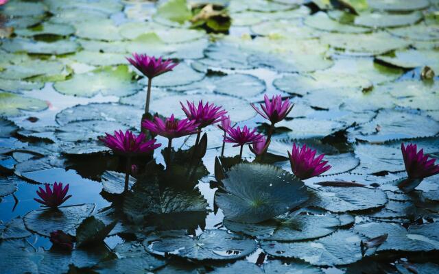
[[209, 101], [209, 103], [215, 103], [215, 105], [222, 105], [222, 107], [227, 110], [230, 117], [233, 117], [233, 121], [245, 121], [254, 116], [256, 116], [250, 103], [244, 101], [243, 99], [233, 98], [225, 95], [179, 95], [172, 97], [163, 97], [161, 99], [151, 102], [150, 109], [153, 112], [158, 112], [163, 116], [171, 116], [175, 114], [176, 118], [182, 119], [186, 116], [184, 113], [179, 112], [182, 103], [186, 101], [198, 101], [203, 100], [204, 103]]

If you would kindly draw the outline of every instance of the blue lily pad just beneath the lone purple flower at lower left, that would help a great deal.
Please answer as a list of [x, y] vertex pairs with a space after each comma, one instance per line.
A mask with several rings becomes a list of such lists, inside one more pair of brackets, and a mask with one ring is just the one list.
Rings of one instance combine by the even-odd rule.
[[62, 206], [58, 210], [32, 210], [24, 216], [26, 228], [43, 236], [50, 232], [62, 230], [75, 236], [76, 227], [82, 219], [90, 216], [95, 209], [94, 203], [84, 203], [77, 206]]

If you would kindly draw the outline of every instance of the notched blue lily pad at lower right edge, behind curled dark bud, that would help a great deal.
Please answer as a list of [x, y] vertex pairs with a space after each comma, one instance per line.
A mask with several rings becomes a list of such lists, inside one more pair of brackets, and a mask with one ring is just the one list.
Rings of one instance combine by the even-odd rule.
[[377, 251], [431, 251], [439, 249], [438, 223], [411, 226], [407, 231], [397, 223], [364, 223], [355, 225], [354, 231], [368, 238], [388, 234]]

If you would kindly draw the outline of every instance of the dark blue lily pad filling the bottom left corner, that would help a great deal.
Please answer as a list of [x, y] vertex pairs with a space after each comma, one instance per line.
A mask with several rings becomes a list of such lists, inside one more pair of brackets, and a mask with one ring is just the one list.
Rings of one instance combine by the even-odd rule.
[[38, 273], [35, 249], [27, 240], [1, 240], [0, 241], [0, 270], [2, 273], [21, 274]]

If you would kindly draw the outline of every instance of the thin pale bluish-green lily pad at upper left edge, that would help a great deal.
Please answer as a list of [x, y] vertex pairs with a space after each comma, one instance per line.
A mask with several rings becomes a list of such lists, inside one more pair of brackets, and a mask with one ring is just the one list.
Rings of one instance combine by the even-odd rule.
[[26, 52], [35, 54], [67, 54], [79, 49], [77, 42], [71, 40], [57, 40], [55, 42], [36, 41], [27, 38], [3, 40], [2, 49], [9, 52]]

